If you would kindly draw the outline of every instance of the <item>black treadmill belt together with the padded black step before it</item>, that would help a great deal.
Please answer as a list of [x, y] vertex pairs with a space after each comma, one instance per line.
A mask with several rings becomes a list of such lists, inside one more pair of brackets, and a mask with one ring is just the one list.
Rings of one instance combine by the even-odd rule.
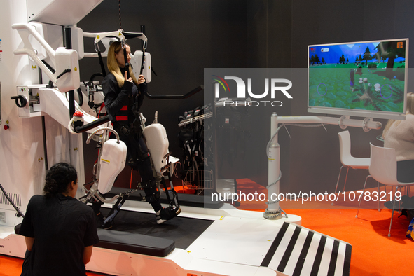
[[[109, 208], [101, 207], [108, 214]], [[110, 230], [97, 229], [99, 242], [95, 247], [125, 251], [149, 256], [165, 257], [175, 247], [186, 249], [213, 221], [177, 216], [157, 224], [155, 214], [120, 210]], [[15, 233], [20, 230], [19, 223]]]

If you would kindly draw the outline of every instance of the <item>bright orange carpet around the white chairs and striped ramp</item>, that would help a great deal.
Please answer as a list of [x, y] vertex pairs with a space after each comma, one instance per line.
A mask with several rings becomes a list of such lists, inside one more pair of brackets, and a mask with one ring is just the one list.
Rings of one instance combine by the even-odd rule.
[[[237, 179], [237, 190], [242, 193], [267, 193], [267, 190], [249, 179]], [[390, 189], [388, 189], [389, 191]], [[378, 191], [372, 188], [368, 191]], [[383, 191], [383, 188], [381, 188]], [[413, 194], [411, 194], [413, 195]], [[265, 211], [263, 202], [240, 202], [240, 209], [252, 208]], [[258, 206], [261, 207], [258, 207]], [[335, 237], [352, 245], [351, 276], [401, 276], [413, 275], [414, 242], [406, 237], [408, 224], [406, 216], [398, 218], [394, 213], [391, 237], [388, 237], [392, 211], [389, 209], [361, 209], [357, 214], [358, 202], [308, 202], [302, 205], [308, 209], [288, 209], [291, 202], [280, 202], [287, 214], [296, 214], [302, 218], [302, 226], [319, 233]], [[363, 202], [361, 207], [375, 208], [376, 202]], [[383, 205], [381, 205], [383, 206]], [[285, 209], [286, 207], [286, 209]], [[346, 209], [338, 209], [346, 208]]]

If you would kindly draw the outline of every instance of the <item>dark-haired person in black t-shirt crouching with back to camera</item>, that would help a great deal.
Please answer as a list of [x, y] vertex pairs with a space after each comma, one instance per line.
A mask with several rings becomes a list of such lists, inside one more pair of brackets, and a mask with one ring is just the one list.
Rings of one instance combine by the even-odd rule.
[[99, 238], [95, 214], [75, 198], [77, 188], [73, 166], [50, 167], [45, 194], [30, 199], [20, 226], [27, 245], [21, 275], [86, 275], [85, 264]]

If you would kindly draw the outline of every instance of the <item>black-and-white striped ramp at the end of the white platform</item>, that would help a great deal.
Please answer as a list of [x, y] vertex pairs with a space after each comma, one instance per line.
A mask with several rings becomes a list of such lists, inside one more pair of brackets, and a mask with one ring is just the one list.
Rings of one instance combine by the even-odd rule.
[[350, 275], [352, 247], [293, 223], [284, 223], [261, 266], [291, 276]]

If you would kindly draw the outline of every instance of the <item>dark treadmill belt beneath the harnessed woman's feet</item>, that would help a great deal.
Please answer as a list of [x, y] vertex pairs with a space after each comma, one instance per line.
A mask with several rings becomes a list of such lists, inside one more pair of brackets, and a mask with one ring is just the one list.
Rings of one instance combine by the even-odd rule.
[[[104, 216], [109, 214], [110, 210], [109, 208], [101, 208]], [[213, 221], [207, 219], [191, 219], [178, 215], [170, 221], [157, 224], [155, 213], [132, 212], [121, 209], [114, 219], [111, 230], [163, 237], [174, 240], [176, 248], [186, 249], [212, 223]]]

